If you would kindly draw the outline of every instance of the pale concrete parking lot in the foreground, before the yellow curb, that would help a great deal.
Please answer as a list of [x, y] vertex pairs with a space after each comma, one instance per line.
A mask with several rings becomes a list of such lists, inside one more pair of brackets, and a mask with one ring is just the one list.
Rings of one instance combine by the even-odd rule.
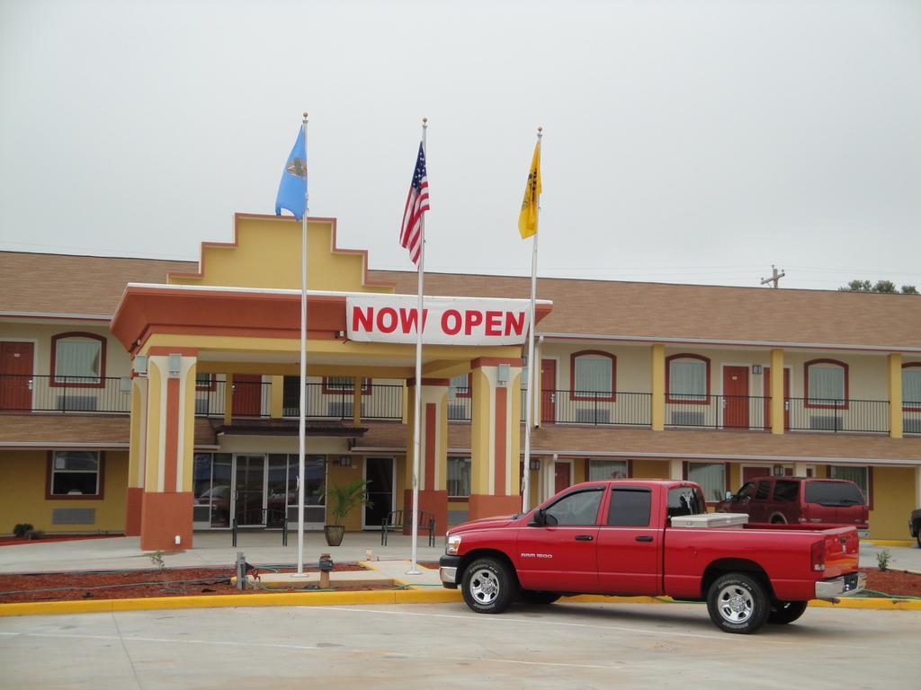
[[0, 618], [0, 687], [916, 688], [919, 629], [921, 612], [815, 608], [727, 635], [700, 604], [24, 616]]

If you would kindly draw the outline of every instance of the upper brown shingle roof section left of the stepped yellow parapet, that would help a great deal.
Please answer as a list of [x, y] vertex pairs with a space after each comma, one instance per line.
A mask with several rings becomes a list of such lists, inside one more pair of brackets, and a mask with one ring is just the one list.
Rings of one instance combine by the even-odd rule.
[[167, 282], [194, 261], [0, 251], [0, 313], [111, 316], [128, 282]]

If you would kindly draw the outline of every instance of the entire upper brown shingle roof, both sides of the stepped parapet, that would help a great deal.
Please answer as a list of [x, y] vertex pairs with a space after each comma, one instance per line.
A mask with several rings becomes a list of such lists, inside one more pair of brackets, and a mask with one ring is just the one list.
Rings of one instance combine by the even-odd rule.
[[[192, 261], [0, 252], [0, 313], [111, 316], [128, 282], [166, 282]], [[412, 294], [416, 274], [371, 270]], [[426, 293], [530, 296], [530, 279], [427, 273]], [[546, 278], [543, 333], [921, 349], [921, 296]]]

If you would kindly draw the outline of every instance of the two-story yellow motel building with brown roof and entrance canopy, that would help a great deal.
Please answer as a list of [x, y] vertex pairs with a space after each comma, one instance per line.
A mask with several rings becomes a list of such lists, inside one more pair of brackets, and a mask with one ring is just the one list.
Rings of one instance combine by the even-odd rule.
[[[416, 391], [437, 532], [518, 510], [529, 280], [426, 275], [450, 299], [417, 382], [393, 336], [415, 273], [368, 270], [333, 220], [310, 221], [309, 245], [309, 527], [324, 481], [371, 482], [352, 530], [409, 507]], [[234, 518], [293, 524], [299, 251], [299, 223], [239, 214], [199, 263], [0, 252], [0, 534], [166, 548]], [[870, 536], [907, 538], [921, 298], [556, 279], [538, 295], [531, 505], [588, 478], [689, 477], [716, 502], [765, 474], [845, 477]]]

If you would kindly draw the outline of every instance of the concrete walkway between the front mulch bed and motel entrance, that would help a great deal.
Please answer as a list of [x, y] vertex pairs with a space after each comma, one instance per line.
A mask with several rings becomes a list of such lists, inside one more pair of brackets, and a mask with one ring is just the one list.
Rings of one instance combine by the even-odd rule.
[[[253, 565], [294, 564], [297, 534], [288, 535], [288, 546], [282, 546], [281, 541], [281, 534], [276, 532], [243, 533], [234, 548], [227, 532], [196, 533], [194, 548], [164, 554], [163, 560], [167, 568], [229, 567], [236, 563], [237, 552], [242, 551]], [[444, 537], [436, 537], [436, 545], [428, 546], [427, 537], [420, 536], [417, 559], [437, 561], [444, 554]], [[390, 535], [388, 546], [380, 546], [379, 532], [356, 532], [347, 533], [342, 546], [326, 546], [321, 532], [309, 532], [304, 538], [304, 563], [315, 564], [324, 553], [330, 554], [333, 562], [362, 561], [367, 559], [368, 549], [372, 558], [379, 558], [381, 563], [409, 560], [412, 538]], [[150, 553], [141, 550], [136, 536], [0, 546], [0, 573], [148, 569], [154, 567]], [[400, 567], [409, 569], [408, 565]]]

